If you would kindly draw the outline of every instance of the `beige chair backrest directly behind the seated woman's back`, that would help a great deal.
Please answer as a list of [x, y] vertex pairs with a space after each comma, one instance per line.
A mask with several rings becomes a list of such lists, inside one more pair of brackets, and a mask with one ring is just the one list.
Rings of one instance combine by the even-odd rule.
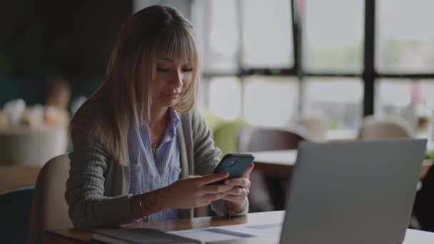
[[68, 155], [64, 154], [41, 169], [31, 206], [29, 243], [44, 243], [45, 230], [73, 228], [64, 198], [69, 168]]

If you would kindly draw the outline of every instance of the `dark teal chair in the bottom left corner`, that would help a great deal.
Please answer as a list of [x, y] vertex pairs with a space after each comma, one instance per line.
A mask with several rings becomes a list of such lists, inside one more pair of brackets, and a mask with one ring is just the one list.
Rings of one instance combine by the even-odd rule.
[[0, 194], [1, 243], [28, 243], [34, 186]]

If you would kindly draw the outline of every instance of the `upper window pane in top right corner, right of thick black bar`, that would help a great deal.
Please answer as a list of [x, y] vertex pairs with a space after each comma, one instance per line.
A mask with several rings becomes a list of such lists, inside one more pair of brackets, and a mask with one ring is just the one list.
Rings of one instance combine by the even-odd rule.
[[432, 72], [434, 1], [380, 0], [377, 3], [375, 66], [383, 73]]

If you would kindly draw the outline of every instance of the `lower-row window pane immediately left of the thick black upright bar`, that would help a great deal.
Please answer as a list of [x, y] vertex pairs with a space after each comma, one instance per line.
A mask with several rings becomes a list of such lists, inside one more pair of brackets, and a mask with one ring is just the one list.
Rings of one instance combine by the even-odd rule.
[[325, 116], [333, 129], [358, 129], [363, 101], [360, 79], [308, 78], [305, 88], [304, 113]]

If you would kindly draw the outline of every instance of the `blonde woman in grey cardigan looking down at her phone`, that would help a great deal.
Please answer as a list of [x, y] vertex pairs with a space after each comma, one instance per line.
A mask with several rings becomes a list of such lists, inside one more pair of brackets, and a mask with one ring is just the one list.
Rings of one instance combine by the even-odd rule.
[[247, 212], [253, 164], [208, 185], [228, 174], [211, 174], [220, 151], [193, 108], [199, 73], [193, 27], [176, 9], [150, 6], [123, 24], [104, 82], [71, 121], [74, 226], [191, 218], [210, 203], [217, 215]]

